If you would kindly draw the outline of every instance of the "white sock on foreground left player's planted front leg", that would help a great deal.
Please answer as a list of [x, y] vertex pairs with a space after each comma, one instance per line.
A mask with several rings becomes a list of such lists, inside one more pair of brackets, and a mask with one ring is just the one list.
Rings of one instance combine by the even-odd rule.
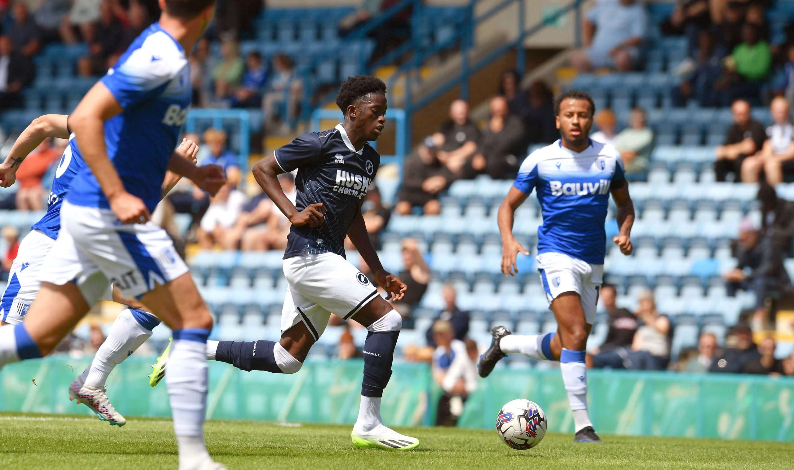
[[171, 345], [165, 380], [179, 445], [179, 468], [195, 468], [210, 459], [203, 438], [207, 389], [206, 342], [175, 339]]

